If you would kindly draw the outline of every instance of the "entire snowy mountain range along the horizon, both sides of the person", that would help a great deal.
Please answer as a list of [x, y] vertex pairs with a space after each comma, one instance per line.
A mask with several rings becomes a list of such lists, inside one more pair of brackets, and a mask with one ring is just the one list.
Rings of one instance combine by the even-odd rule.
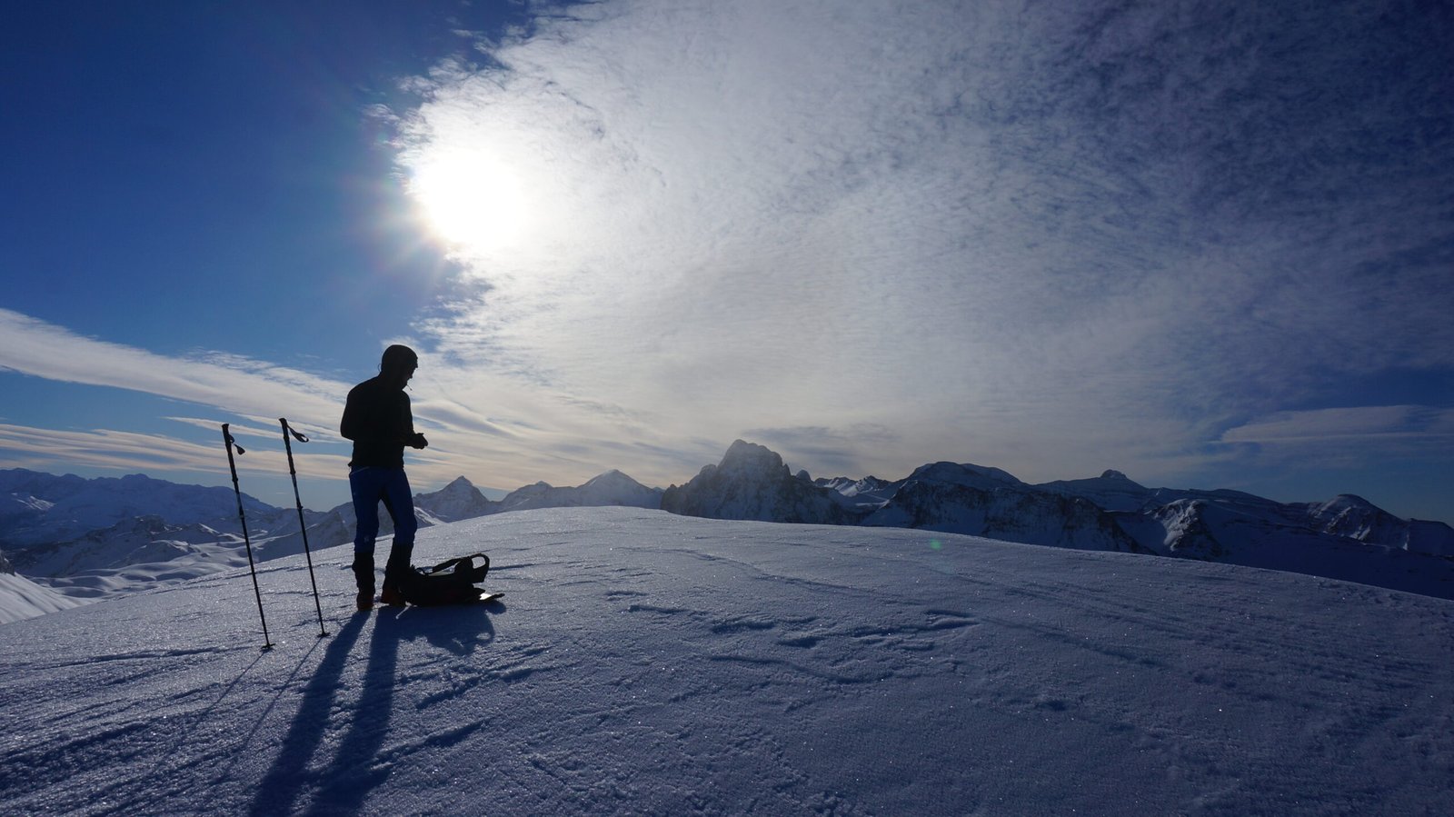
[[[302, 552], [297, 509], [243, 496], [254, 557]], [[459, 477], [414, 497], [420, 525], [547, 507], [625, 506], [711, 519], [912, 528], [1059, 548], [1197, 558], [1454, 597], [1454, 529], [1399, 519], [1351, 494], [1277, 503], [1230, 490], [1149, 488], [1118, 471], [1027, 484], [933, 462], [900, 480], [794, 474], [734, 442], [682, 486], [608, 471], [577, 487], [525, 486], [499, 502]], [[353, 509], [305, 510], [310, 548], [353, 538]], [[384, 535], [391, 532], [387, 516]], [[35, 612], [246, 566], [237, 497], [144, 475], [84, 480], [0, 470], [0, 593]], [[23, 605], [22, 605], [23, 606]], [[29, 608], [28, 608], [29, 609]]]

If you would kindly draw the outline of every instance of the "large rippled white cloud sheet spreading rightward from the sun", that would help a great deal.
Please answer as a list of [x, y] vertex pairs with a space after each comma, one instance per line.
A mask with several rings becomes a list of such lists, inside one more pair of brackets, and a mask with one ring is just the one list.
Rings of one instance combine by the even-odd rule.
[[1438, 60], [1389, 57], [1409, 29], [1361, 6], [574, 7], [401, 112], [406, 174], [474, 150], [528, 190], [518, 241], [457, 247], [487, 288], [422, 337], [635, 417], [616, 433], [867, 424], [903, 433], [864, 470], [1185, 470], [1339, 372], [1454, 366], [1447, 137], [1396, 142], [1438, 109]]

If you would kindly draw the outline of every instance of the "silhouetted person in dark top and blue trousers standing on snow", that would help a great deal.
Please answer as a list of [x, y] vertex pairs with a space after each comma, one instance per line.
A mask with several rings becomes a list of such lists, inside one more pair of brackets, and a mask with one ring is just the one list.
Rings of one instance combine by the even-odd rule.
[[394, 520], [394, 544], [384, 567], [384, 589], [378, 600], [404, 603], [400, 581], [411, 570], [414, 551], [414, 500], [404, 475], [404, 446], [426, 448], [429, 440], [414, 430], [414, 414], [404, 387], [419, 368], [419, 355], [409, 346], [384, 350], [378, 377], [349, 391], [343, 406], [343, 436], [353, 440], [349, 461], [349, 490], [353, 494], [353, 579], [358, 583], [358, 608], [374, 609], [374, 541], [378, 538], [378, 503]]

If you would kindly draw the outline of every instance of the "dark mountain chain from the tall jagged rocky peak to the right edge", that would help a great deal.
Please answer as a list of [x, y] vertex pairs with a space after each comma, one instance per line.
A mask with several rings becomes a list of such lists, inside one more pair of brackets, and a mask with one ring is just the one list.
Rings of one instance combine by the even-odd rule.
[[1229, 490], [1147, 488], [1118, 471], [1031, 486], [999, 468], [954, 462], [893, 483], [811, 481], [791, 477], [772, 451], [737, 440], [721, 465], [667, 488], [662, 507], [1226, 561], [1454, 597], [1454, 529], [1397, 519], [1351, 496], [1282, 504]]

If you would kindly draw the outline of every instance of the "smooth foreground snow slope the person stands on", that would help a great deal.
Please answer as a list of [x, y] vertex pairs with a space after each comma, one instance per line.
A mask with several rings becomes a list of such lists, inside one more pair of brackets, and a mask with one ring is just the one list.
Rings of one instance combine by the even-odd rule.
[[1448, 814], [1454, 602], [906, 529], [537, 510], [0, 628], [6, 814]]

